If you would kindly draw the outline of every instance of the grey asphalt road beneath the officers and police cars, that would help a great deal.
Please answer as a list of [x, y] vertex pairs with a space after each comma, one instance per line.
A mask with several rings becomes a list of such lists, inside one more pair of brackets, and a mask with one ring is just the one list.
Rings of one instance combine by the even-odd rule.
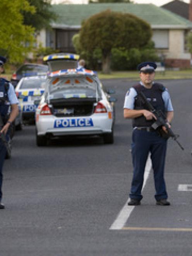
[[[191, 80], [164, 81], [182, 151], [169, 140], [166, 185], [171, 206], [156, 206], [153, 172], [123, 229], [111, 230], [125, 205], [132, 179], [131, 122], [123, 119], [124, 96], [134, 81], [103, 80], [116, 90], [115, 143], [98, 138], [35, 144], [33, 125], [15, 133], [5, 161], [0, 211], [0, 256], [191, 256]], [[178, 191], [188, 184], [189, 191]]]

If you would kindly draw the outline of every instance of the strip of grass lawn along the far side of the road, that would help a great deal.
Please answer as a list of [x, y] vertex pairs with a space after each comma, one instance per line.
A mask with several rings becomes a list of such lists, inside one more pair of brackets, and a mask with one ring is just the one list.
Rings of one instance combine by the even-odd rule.
[[[2, 77], [10, 80], [12, 73], [2, 74]], [[114, 71], [111, 74], [102, 74], [98, 72], [100, 79], [113, 79], [113, 78], [127, 78], [127, 79], [139, 79], [138, 71]], [[192, 69], [187, 70], [166, 70], [163, 72], [156, 72], [155, 79], [192, 79]]]

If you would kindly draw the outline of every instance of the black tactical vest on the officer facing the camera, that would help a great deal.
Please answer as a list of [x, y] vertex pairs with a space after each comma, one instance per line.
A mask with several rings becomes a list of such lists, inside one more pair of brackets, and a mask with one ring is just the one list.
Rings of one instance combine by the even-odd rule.
[[[147, 109], [146, 105], [142, 102], [139, 91], [142, 91], [147, 100], [156, 110], [161, 110], [165, 114], [165, 103], [162, 98], [162, 93], [165, 91], [165, 87], [162, 84], [154, 83], [151, 89], [147, 89], [141, 84], [133, 86], [137, 92], [137, 96], [134, 101], [134, 110]], [[146, 120], [144, 115], [133, 119], [133, 127], [150, 127], [154, 123], [154, 120]]]

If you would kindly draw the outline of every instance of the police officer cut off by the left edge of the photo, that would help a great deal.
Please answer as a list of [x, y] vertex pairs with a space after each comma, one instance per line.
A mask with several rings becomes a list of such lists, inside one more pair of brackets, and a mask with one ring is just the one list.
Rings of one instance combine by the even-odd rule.
[[[0, 74], [3, 72], [3, 65], [6, 62], [6, 58], [0, 56]], [[1, 133], [7, 135], [10, 124], [14, 121], [18, 114], [18, 100], [15, 94], [14, 87], [6, 79], [0, 77], [0, 114], [3, 119], [3, 127]], [[8, 117], [9, 105], [11, 105], [11, 113]], [[7, 136], [6, 136], [7, 137]], [[0, 139], [0, 209], [4, 209], [5, 206], [2, 204], [2, 168], [5, 160], [6, 148]]]

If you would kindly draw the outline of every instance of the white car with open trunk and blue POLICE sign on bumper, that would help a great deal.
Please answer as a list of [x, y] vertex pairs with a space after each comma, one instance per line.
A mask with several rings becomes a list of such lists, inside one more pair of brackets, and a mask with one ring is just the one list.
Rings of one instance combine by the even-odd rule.
[[36, 109], [36, 144], [66, 135], [98, 135], [113, 143], [113, 108], [96, 72], [66, 69], [51, 72]]

